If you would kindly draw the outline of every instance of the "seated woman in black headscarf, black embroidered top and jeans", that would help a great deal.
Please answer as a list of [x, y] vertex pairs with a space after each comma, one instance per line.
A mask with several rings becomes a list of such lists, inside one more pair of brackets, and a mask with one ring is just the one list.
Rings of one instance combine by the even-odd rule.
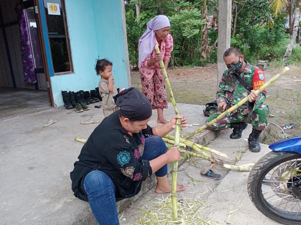
[[[101, 225], [119, 224], [116, 201], [137, 195], [142, 181], [153, 173], [155, 192], [171, 192], [167, 163], [179, 161], [180, 154], [178, 147], [167, 150], [161, 137], [175, 129], [177, 118], [186, 126], [184, 116], [173, 116], [161, 126], [148, 126], [150, 103], [136, 88], [119, 92], [114, 100], [120, 109], [95, 128], [70, 173], [74, 195], [89, 202]], [[177, 185], [176, 191], [185, 189]]]

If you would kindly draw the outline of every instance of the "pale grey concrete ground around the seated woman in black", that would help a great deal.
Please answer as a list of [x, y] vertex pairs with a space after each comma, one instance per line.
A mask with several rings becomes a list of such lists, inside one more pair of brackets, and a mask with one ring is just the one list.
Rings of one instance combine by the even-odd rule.
[[[89, 105], [91, 109], [82, 113], [53, 108], [31, 115], [21, 114], [14, 119], [8, 118], [0, 122], [0, 224], [96, 224], [88, 203], [73, 196], [69, 172], [73, 169], [73, 163], [82, 147], [82, 143], [74, 141], [74, 137], [86, 139], [97, 126], [81, 125], [80, 121], [90, 116], [94, 120], [103, 119], [101, 108], [94, 108], [98, 104]], [[186, 116], [189, 124], [203, 124], [205, 118], [202, 116], [202, 108], [203, 106], [178, 104], [179, 112]], [[166, 119], [174, 115], [171, 104], [164, 110], [164, 115]], [[46, 128], [42, 127], [49, 118], [58, 122]], [[149, 125], [157, 125], [155, 111]], [[182, 134], [185, 136], [196, 128], [198, 126], [184, 128]], [[244, 138], [250, 132], [249, 126], [247, 129], [243, 132]], [[216, 133], [206, 130], [194, 137], [194, 141], [203, 145], [212, 141], [211, 148], [234, 158], [239, 148], [246, 149], [247, 142], [243, 139], [231, 140], [228, 138], [229, 133], [230, 131], [226, 131], [214, 139]], [[266, 146], [262, 147], [261, 153], [245, 153], [238, 164], [256, 162], [268, 151]], [[179, 193], [179, 196], [202, 199], [214, 205], [203, 212], [203, 216], [210, 215], [214, 223], [274, 223], [261, 215], [250, 203], [246, 192], [247, 172], [228, 173], [225, 169], [215, 167], [214, 171], [221, 174], [223, 179], [213, 181], [199, 176], [200, 170], [207, 166], [205, 161], [195, 161], [195, 165], [190, 161], [182, 162], [178, 183], [186, 185], [188, 189]], [[151, 182], [145, 183], [139, 196], [118, 202], [120, 216], [125, 215], [120, 218], [121, 223], [134, 223], [136, 208], [141, 207], [147, 200], [143, 196], [166, 197], [155, 194], [154, 185], [155, 179], [151, 179]], [[137, 199], [138, 201], [131, 204]], [[228, 218], [227, 213], [237, 208]], [[255, 219], [251, 222], [249, 217]]]

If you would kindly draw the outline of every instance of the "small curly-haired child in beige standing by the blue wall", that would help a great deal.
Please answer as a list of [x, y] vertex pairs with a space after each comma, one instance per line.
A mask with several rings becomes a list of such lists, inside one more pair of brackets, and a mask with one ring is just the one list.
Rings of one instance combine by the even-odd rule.
[[97, 75], [101, 76], [98, 87], [99, 94], [102, 97], [102, 111], [104, 117], [119, 110], [119, 107], [115, 105], [113, 99], [118, 92], [112, 75], [112, 65], [113, 63], [106, 59], [97, 59], [95, 65]]

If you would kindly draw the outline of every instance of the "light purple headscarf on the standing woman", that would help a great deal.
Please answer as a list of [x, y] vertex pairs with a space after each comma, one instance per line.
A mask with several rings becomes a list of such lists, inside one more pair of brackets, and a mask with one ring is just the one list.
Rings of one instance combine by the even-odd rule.
[[155, 43], [155, 30], [163, 27], [170, 26], [170, 22], [166, 15], [154, 16], [147, 22], [147, 29], [139, 39], [139, 68], [141, 63], [147, 58], [153, 51]]

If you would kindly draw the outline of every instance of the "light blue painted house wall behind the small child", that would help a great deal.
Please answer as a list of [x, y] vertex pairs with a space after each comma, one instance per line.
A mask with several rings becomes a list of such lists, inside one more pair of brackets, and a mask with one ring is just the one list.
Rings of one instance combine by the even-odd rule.
[[128, 87], [120, 0], [65, 0], [73, 74], [50, 78], [56, 106], [63, 105], [61, 90], [92, 90], [100, 76], [95, 60], [113, 62], [116, 87]]

